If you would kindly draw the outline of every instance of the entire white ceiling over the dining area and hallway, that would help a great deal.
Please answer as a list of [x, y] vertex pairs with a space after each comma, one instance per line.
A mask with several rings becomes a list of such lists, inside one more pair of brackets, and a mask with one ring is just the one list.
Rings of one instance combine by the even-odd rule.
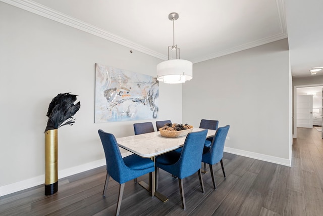
[[288, 35], [293, 76], [311, 76], [310, 68], [323, 66], [320, 0], [0, 1], [159, 59], [167, 59], [173, 45], [168, 15], [176, 12], [181, 59], [197, 63]]

